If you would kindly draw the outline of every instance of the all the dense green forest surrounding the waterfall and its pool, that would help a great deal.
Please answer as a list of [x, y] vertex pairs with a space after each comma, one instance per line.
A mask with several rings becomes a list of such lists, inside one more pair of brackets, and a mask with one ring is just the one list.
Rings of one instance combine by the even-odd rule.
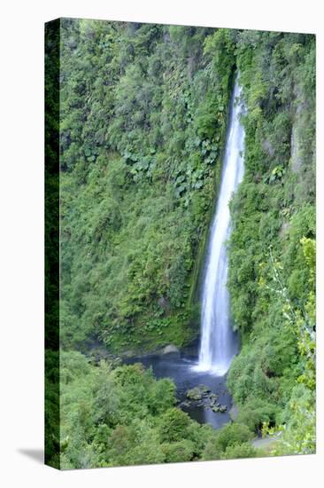
[[[59, 408], [50, 342], [46, 398], [47, 424], [59, 417], [60, 429], [47, 460], [255, 457], [268, 454], [251, 445], [261, 429], [279, 439], [271, 454], [313, 453], [314, 36], [64, 19], [47, 43], [60, 52], [46, 97], [56, 127], [59, 88], [61, 259]], [[197, 340], [236, 72], [245, 174], [230, 205], [228, 289], [241, 350], [228, 390], [238, 414], [217, 430], [181, 411], [172, 380], [120, 357]]]

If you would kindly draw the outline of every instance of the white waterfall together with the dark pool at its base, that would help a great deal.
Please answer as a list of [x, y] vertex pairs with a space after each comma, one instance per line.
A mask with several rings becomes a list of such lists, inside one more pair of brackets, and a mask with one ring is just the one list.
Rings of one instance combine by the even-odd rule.
[[[232, 398], [226, 387], [226, 373], [237, 350], [231, 327], [227, 290], [228, 258], [226, 241], [230, 232], [228, 203], [243, 178], [244, 132], [239, 116], [242, 106], [237, 103], [241, 90], [235, 82], [231, 98], [228, 138], [224, 153], [219, 199], [212, 219], [205, 259], [202, 293], [201, 340], [197, 348], [185, 348], [179, 354], [151, 354], [125, 359], [127, 364], [141, 362], [152, 367], [157, 378], [174, 380], [179, 406], [200, 423], [210, 423], [215, 429], [230, 420]], [[225, 411], [212, 408], [208, 397], [189, 401], [188, 391], [204, 385], [224, 405]]]

